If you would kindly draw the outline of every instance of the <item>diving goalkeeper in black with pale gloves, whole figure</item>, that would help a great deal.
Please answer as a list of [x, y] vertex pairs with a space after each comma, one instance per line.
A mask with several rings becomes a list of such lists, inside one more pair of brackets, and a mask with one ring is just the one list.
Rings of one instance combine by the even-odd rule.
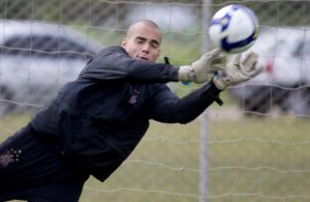
[[[255, 53], [225, 64], [219, 49], [186, 66], [158, 64], [160, 44], [156, 23], [132, 24], [120, 46], [93, 56], [1, 143], [0, 201], [76, 202], [89, 176], [104, 181], [129, 157], [150, 120], [189, 123], [214, 101], [222, 103], [219, 96], [229, 86], [261, 71]], [[179, 98], [166, 85], [177, 81], [201, 86]]]

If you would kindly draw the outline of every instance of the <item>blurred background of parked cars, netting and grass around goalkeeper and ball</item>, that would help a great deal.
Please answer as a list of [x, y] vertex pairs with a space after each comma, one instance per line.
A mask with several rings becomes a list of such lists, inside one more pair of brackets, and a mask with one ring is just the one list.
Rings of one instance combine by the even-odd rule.
[[[155, 21], [164, 56], [187, 65], [204, 50], [220, 8], [239, 3], [259, 20], [252, 50], [264, 71], [221, 93], [187, 125], [152, 126], [104, 183], [81, 201], [310, 201], [310, 2], [305, 0], [0, 0], [0, 139], [23, 126], [100, 48], [128, 26]], [[169, 83], [179, 97], [199, 86]]]

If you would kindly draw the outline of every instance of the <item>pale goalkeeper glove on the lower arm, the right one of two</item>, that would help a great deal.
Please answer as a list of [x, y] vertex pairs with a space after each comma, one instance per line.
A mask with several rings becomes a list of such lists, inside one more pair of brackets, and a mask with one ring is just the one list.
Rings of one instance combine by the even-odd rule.
[[241, 56], [241, 54], [236, 55], [225, 68], [214, 75], [213, 82], [219, 90], [247, 81], [263, 70], [262, 67], [256, 67], [258, 57], [256, 53], [247, 54], [243, 61]]

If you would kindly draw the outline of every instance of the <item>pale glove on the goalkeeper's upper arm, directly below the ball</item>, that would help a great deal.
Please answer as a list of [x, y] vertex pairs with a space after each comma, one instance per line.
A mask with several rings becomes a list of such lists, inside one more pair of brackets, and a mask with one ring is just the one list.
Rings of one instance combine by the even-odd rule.
[[197, 83], [206, 82], [210, 79], [209, 74], [221, 70], [223, 65], [220, 63], [224, 59], [224, 55], [220, 55], [220, 49], [213, 49], [202, 55], [190, 66], [180, 66], [178, 70], [178, 80], [193, 81]]

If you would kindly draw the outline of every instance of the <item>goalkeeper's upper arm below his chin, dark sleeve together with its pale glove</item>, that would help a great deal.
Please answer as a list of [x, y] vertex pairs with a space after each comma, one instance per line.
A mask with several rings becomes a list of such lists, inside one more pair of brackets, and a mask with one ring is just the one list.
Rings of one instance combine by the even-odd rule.
[[209, 74], [220, 70], [222, 66], [219, 49], [202, 55], [187, 66], [173, 66], [137, 60], [130, 57], [122, 47], [108, 47], [92, 58], [80, 74], [80, 78], [91, 80], [122, 80], [128, 82], [206, 82]]

